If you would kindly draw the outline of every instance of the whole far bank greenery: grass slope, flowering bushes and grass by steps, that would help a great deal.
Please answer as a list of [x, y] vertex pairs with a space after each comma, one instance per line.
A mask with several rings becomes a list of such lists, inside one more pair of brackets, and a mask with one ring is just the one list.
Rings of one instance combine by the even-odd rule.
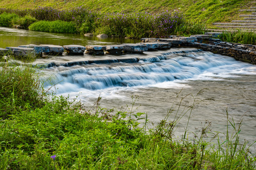
[[[44, 4], [45, 7], [39, 6], [42, 3], [40, 0], [26, 3], [19, 0], [19, 3], [24, 6], [24, 9], [16, 9], [15, 5], [10, 8], [9, 2], [3, 1], [1, 3], [2, 7], [7, 8], [0, 9], [0, 26], [15, 27], [18, 25], [33, 31], [76, 34], [94, 33], [95, 35], [107, 34], [112, 37], [128, 38], [165, 38], [169, 35], [190, 36], [191, 34], [204, 34], [206, 27], [210, 26], [209, 23], [217, 22], [216, 19], [220, 19], [223, 16], [225, 16], [225, 18], [222, 18], [223, 21], [228, 21], [228, 18], [235, 19], [233, 18], [236, 16], [235, 10], [248, 8], [251, 5], [247, 0], [225, 0], [223, 2], [198, 0], [193, 4], [186, 1], [182, 5], [180, 4], [181, 1], [175, 1], [172, 4], [169, 4], [171, 1], [168, 1], [161, 2], [165, 3], [162, 8], [150, 8], [151, 4], [144, 3], [145, 6], [143, 6], [144, 9], [142, 10], [142, 8], [139, 8], [140, 5], [134, 7], [134, 3], [123, 1], [121, 4], [127, 3], [126, 10], [117, 10], [116, 8], [115, 10], [111, 8], [107, 10], [105, 5], [99, 5], [97, 9], [91, 7], [89, 4], [96, 3], [91, 1], [84, 2], [85, 6], [81, 1], [67, 1], [66, 3], [63, 1], [48, 1]], [[53, 3], [56, 3], [56, 5], [51, 8]], [[112, 2], [109, 1], [109, 3]], [[32, 4], [37, 5], [31, 6]], [[182, 8], [177, 9], [179, 4]], [[197, 4], [196, 7], [195, 4]], [[80, 6], [74, 8], [74, 5]], [[116, 7], [118, 7], [118, 3]], [[130, 8], [141, 12], [131, 12]], [[199, 8], [202, 9], [199, 10]], [[221, 11], [217, 10], [217, 8]], [[199, 13], [197, 9], [200, 11]], [[152, 13], [148, 13], [148, 11]], [[225, 33], [219, 38], [227, 42], [256, 44], [255, 32]]]

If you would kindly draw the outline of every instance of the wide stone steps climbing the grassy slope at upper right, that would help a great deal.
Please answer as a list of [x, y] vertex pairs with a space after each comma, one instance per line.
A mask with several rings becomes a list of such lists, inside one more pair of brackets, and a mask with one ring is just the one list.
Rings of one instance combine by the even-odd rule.
[[[256, 4], [256, 1], [251, 1], [250, 3]], [[250, 9], [239, 9], [239, 11], [247, 11], [251, 12], [251, 14], [239, 15], [239, 17], [242, 19], [233, 20], [231, 23], [212, 23], [214, 26], [220, 28], [221, 30], [209, 29], [209, 31], [256, 31], [256, 7], [251, 7]]]

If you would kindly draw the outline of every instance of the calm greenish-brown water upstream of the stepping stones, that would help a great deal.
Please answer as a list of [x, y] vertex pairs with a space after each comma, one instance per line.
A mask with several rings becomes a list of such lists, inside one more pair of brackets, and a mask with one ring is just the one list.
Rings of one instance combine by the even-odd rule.
[[15, 28], [0, 27], [0, 48], [27, 44], [54, 44], [54, 45], [95, 45], [136, 43], [137, 39], [85, 37], [81, 34], [60, 34], [35, 32]]

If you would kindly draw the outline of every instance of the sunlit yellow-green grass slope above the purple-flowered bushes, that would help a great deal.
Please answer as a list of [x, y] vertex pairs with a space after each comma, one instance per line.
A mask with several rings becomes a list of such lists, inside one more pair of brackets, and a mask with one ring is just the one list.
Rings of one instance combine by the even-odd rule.
[[[1, 0], [0, 8], [26, 9], [52, 7], [73, 9], [84, 6], [92, 12], [143, 12], [180, 11], [191, 21], [205, 23], [230, 22], [237, 19], [238, 9], [253, 6], [252, 0]], [[246, 13], [246, 12], [245, 12]]]

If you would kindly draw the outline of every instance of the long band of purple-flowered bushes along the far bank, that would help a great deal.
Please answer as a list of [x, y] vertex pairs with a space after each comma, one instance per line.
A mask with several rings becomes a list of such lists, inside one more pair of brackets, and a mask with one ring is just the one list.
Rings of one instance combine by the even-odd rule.
[[[190, 35], [202, 34], [204, 26], [202, 24], [190, 23], [184, 20], [182, 14], [164, 11], [160, 14], [144, 13], [92, 13], [84, 7], [77, 7], [73, 10], [57, 10], [53, 8], [40, 7], [38, 9], [10, 10], [0, 9], [1, 15], [4, 13], [16, 14], [19, 17], [25, 15], [31, 16], [38, 22], [49, 21], [46, 26], [42, 23], [35, 23], [29, 27], [33, 31], [51, 30], [52, 25], [62, 26], [61, 23], [52, 23], [51, 21], [72, 22], [66, 25], [72, 25], [72, 33], [94, 33], [107, 34], [112, 37], [155, 37], [164, 38], [170, 34]], [[3, 16], [5, 17], [5, 16]], [[15, 23], [12, 23], [14, 25]], [[32, 24], [32, 23], [31, 23]], [[11, 26], [11, 24], [9, 25]], [[64, 26], [63, 26], [64, 27]], [[76, 31], [74, 31], [76, 30]], [[69, 33], [68, 30], [55, 29], [52, 32]]]

